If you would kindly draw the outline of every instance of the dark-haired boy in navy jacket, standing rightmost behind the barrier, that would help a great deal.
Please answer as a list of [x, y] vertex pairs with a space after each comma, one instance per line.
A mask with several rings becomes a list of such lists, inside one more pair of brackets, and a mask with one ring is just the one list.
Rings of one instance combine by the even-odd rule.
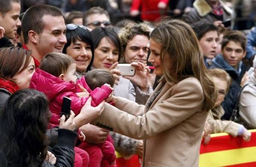
[[225, 34], [221, 44], [222, 55], [213, 59], [211, 68], [224, 69], [232, 78], [230, 90], [221, 103], [225, 110], [223, 118], [230, 120], [233, 109], [235, 108], [238, 93], [248, 76], [246, 71], [250, 68], [241, 61], [246, 54], [246, 37], [240, 31], [230, 31]]

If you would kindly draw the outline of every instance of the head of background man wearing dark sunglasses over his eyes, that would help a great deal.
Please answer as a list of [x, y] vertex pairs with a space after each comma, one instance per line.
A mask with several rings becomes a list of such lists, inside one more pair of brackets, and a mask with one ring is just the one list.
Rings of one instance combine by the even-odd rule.
[[86, 11], [83, 16], [83, 25], [90, 29], [107, 27], [111, 25], [108, 11], [100, 7], [93, 7]]

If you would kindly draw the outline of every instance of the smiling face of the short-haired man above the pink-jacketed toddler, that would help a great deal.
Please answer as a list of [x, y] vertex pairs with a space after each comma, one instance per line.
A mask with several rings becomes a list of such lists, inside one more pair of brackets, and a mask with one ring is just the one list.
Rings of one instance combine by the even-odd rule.
[[66, 26], [62, 16], [44, 15], [42, 18], [44, 30], [41, 34], [36, 34], [37, 51], [40, 57], [51, 52], [62, 53], [65, 43], [67, 43], [64, 32]]

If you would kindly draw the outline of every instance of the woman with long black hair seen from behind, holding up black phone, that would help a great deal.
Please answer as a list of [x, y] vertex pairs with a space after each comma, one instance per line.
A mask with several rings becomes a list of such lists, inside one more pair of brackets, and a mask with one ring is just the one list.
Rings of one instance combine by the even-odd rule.
[[[73, 132], [75, 114], [65, 122], [61, 117], [58, 143], [51, 149], [57, 157], [55, 165], [45, 161], [48, 139], [47, 125], [51, 113], [43, 93], [24, 89], [12, 94], [0, 112], [0, 150], [8, 167], [72, 167], [77, 134]], [[3, 159], [3, 157], [1, 158]]]

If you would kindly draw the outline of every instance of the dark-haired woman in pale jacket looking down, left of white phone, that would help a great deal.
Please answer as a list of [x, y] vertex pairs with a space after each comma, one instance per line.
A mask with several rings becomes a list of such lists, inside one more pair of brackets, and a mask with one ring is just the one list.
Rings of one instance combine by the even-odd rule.
[[119, 77], [120, 71], [115, 69], [122, 53], [121, 42], [117, 34], [111, 28], [103, 27], [93, 29], [91, 34], [93, 37], [97, 37], [93, 38], [93, 45], [95, 48], [93, 68], [109, 70], [115, 76], [116, 85], [114, 85], [114, 95], [133, 101], [148, 98], [148, 96], [145, 96], [144, 93], [147, 92], [149, 88], [147, 77], [144, 78], [145, 80], [140, 80], [141, 78], [137, 78], [137, 80], [139, 80], [137, 83], [140, 83], [140, 85], [135, 86], [140, 86], [141, 91], [138, 91], [136, 96], [134, 85], [128, 79], [126, 79], [130, 77]]

